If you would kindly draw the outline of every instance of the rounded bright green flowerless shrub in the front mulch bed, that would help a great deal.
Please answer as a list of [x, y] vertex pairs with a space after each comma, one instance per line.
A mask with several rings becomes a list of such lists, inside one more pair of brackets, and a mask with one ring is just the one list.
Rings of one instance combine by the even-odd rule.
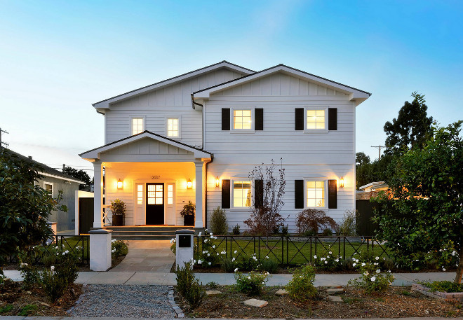
[[286, 285], [286, 291], [291, 299], [304, 302], [316, 295], [314, 286], [315, 270], [311, 265], [297, 268], [293, 273], [293, 279]]

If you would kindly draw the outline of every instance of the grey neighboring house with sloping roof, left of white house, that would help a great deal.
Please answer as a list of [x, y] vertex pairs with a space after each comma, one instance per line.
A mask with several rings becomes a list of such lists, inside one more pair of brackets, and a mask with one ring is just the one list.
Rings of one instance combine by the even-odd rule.
[[48, 216], [48, 221], [58, 223], [58, 232], [69, 231], [69, 233], [66, 232], [66, 234], [73, 235], [75, 225], [75, 194], [76, 190], [79, 190], [79, 184], [83, 184], [85, 182], [80, 181], [79, 179], [76, 179], [73, 176], [63, 174], [62, 172], [48, 167], [47, 165], [43, 165], [43, 163], [32, 160], [31, 156], [25, 157], [24, 155], [21, 155], [20, 153], [16, 153], [11, 150], [8, 150], [8, 152], [18, 156], [18, 158], [22, 160], [32, 162], [35, 165], [39, 165], [40, 167], [42, 167], [43, 170], [40, 172], [42, 178], [35, 184], [50, 192], [54, 198], [58, 197], [58, 192], [62, 190], [62, 200], [60, 204], [65, 204], [67, 206], [67, 212], [52, 211], [51, 215]]

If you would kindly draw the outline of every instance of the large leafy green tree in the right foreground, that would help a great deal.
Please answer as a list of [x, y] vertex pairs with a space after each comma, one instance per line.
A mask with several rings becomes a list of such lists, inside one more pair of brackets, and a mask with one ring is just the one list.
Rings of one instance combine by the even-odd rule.
[[455, 249], [457, 283], [463, 274], [462, 123], [435, 127], [422, 149], [394, 160], [389, 180], [394, 199], [382, 197], [382, 214], [377, 217], [378, 236], [398, 257], [437, 252], [445, 260]]

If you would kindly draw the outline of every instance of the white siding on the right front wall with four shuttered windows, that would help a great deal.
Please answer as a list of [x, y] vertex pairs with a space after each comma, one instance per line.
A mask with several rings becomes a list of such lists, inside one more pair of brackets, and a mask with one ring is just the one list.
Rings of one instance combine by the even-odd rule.
[[[304, 107], [337, 109], [337, 130], [309, 133], [295, 130], [295, 109]], [[234, 132], [222, 130], [222, 108], [262, 108], [264, 130]], [[255, 167], [277, 164], [283, 158], [286, 170], [283, 217], [290, 232], [295, 232], [294, 181], [297, 179], [340, 179], [344, 188], [337, 188], [337, 209], [323, 209], [340, 220], [344, 211], [355, 207], [355, 106], [343, 92], [303, 81], [286, 74], [272, 74], [260, 80], [217, 92], [203, 108], [205, 118], [204, 148], [214, 154], [208, 165], [208, 215], [221, 204], [221, 189], [215, 188], [212, 177], [234, 179], [247, 177]], [[305, 113], [304, 113], [305, 116]], [[328, 113], [326, 114], [328, 116]], [[326, 190], [328, 193], [328, 190]], [[328, 197], [326, 197], [328, 202]], [[229, 227], [237, 223], [243, 229], [249, 216], [247, 209], [226, 209]]]

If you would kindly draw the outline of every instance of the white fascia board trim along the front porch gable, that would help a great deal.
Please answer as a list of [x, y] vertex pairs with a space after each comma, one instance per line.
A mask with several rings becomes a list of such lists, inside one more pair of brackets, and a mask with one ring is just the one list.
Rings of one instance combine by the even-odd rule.
[[154, 140], [157, 140], [157, 141], [161, 141], [165, 144], [170, 144], [171, 146], [176, 146], [177, 148], [181, 148], [181, 149], [184, 149], [186, 151], [190, 151], [192, 153], [194, 153], [194, 158], [205, 158], [205, 159], [210, 159], [210, 154], [209, 153], [206, 153], [204, 151], [201, 151], [201, 150], [197, 150], [196, 148], [192, 148], [192, 147], [189, 147], [189, 146], [186, 146], [184, 144], [180, 144], [178, 142], [175, 142], [175, 141], [172, 141], [170, 139], [165, 139], [163, 137], [158, 137], [154, 134], [149, 134], [149, 132], [145, 132], [145, 133], [142, 133], [142, 134], [137, 134], [133, 137], [130, 137], [128, 139], [123, 139], [119, 142], [116, 142], [114, 144], [109, 144], [107, 146], [102, 146], [100, 148], [96, 148], [96, 149], [93, 149], [91, 151], [88, 151], [86, 153], [81, 153], [81, 158], [85, 159], [85, 160], [92, 160], [92, 159], [100, 159], [100, 153], [102, 152], [105, 152], [105, 151], [108, 151], [108, 150], [111, 150], [111, 149], [114, 149], [114, 148], [119, 148], [119, 146], [124, 146], [126, 144], [131, 144], [132, 142], [135, 142], [137, 140], [140, 140], [140, 139], [144, 139], [144, 138], [150, 138], [150, 139], [154, 139]]

